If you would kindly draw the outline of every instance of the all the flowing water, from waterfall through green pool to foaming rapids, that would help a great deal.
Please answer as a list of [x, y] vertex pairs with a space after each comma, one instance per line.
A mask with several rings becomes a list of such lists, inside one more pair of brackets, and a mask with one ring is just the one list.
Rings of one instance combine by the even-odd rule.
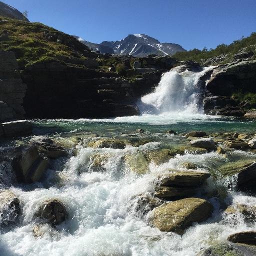
[[[202, 71], [204, 72], [204, 71]], [[17, 226], [0, 232], [1, 256], [195, 256], [202, 248], [225, 241], [234, 232], [255, 229], [242, 215], [226, 215], [223, 204], [256, 205], [256, 197], [234, 191], [226, 180], [207, 180], [204, 193], [198, 196], [213, 204], [212, 216], [205, 222], [194, 223], [180, 236], [161, 232], [151, 227], [147, 219], [150, 212], [139, 217], [133, 207], [135, 196], [153, 191], [155, 175], [166, 168], [183, 169], [182, 163], [193, 162], [199, 169], [212, 171], [219, 165], [235, 160], [255, 160], [256, 154], [233, 150], [226, 155], [209, 152], [200, 155], [177, 154], [169, 161], [156, 165], [150, 162], [145, 174], [134, 172], [124, 162], [125, 155], [180, 146], [187, 143], [182, 135], [165, 133], [173, 129], [178, 133], [190, 130], [206, 132], [251, 132], [256, 125], [250, 120], [233, 117], [203, 115], [200, 107], [198, 74], [185, 71], [163, 74], [155, 91], [141, 98], [140, 116], [113, 119], [34, 120], [34, 135], [48, 135], [63, 143], [76, 145], [77, 154], [51, 160], [41, 182], [16, 185], [9, 177], [10, 166], [0, 165], [0, 186], [10, 187], [22, 202], [22, 215]], [[145, 130], [136, 132], [137, 128]], [[124, 149], [91, 148], [91, 138], [115, 137], [131, 142], [146, 141], [142, 145], [127, 145]], [[1, 150], [28, 141], [30, 137], [4, 140]], [[100, 158], [95, 167], [93, 155]], [[195, 170], [196, 171], [196, 170]], [[235, 180], [233, 180], [235, 182]], [[221, 201], [213, 191], [223, 186], [227, 196]], [[210, 195], [212, 194], [212, 195]], [[44, 199], [60, 199], [67, 207], [68, 219], [47, 229], [42, 237], [32, 233], [32, 219], [38, 204]]]

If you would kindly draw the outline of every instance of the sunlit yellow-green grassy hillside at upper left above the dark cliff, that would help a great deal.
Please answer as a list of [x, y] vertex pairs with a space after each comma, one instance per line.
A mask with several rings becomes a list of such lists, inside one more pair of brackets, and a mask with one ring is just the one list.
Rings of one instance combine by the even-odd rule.
[[14, 51], [20, 67], [59, 56], [85, 58], [89, 52], [73, 36], [37, 22], [0, 17], [0, 31], [0, 49]]

